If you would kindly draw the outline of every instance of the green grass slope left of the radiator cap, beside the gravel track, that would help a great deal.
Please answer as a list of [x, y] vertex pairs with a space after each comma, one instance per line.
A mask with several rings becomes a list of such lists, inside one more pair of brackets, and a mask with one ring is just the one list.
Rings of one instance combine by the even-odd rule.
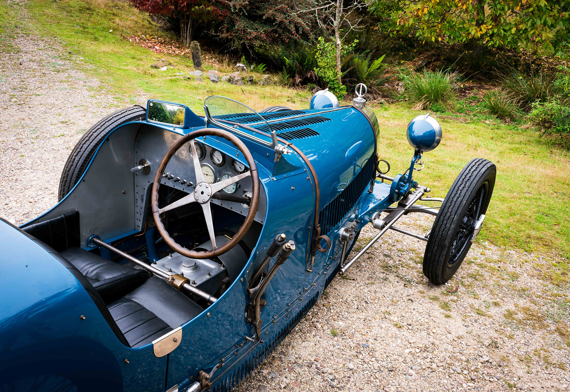
[[[181, 102], [198, 114], [203, 113], [204, 99], [210, 95], [231, 96], [256, 109], [268, 107], [275, 101], [291, 108], [306, 107], [311, 97], [308, 91], [281, 86], [213, 84], [209, 80], [197, 82], [177, 77], [180, 76], [177, 73], [188, 75], [194, 71], [192, 59], [156, 54], [129, 42], [131, 35], [165, 39], [174, 36], [157, 28], [148, 14], [137, 11], [128, 2], [31, 0], [30, 13], [35, 15], [41, 34], [57, 36], [64, 44], [66, 51], [60, 58], [78, 63], [84, 72], [106, 84], [112, 95]], [[158, 58], [164, 58], [174, 68], [167, 71], [150, 68]], [[50, 61], [54, 62], [55, 70], [61, 68], [55, 64], [57, 59]], [[206, 71], [214, 68], [221, 72], [235, 71], [228, 64], [205, 63], [204, 68]], [[260, 75], [254, 76], [259, 79]], [[116, 100], [123, 103], [121, 97]]]

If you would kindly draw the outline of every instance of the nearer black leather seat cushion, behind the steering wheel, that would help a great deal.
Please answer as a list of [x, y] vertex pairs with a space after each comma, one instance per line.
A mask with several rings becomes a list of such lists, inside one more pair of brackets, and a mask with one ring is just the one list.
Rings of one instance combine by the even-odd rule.
[[131, 347], [141, 347], [192, 320], [203, 309], [156, 276], [108, 305]]

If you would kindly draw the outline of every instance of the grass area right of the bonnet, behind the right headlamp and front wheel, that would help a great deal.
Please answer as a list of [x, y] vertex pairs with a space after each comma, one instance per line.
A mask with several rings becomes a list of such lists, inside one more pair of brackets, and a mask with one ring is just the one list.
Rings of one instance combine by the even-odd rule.
[[[388, 175], [403, 173], [412, 156], [412, 149], [405, 142], [405, 126], [420, 112], [402, 104], [375, 112], [381, 128], [378, 154], [392, 164]], [[475, 157], [487, 158], [497, 166], [497, 177], [476, 241], [527, 252], [552, 255], [553, 251], [570, 257], [568, 150], [517, 124], [506, 125], [492, 119], [485, 120], [488, 123], [460, 123], [450, 118], [452, 114], [434, 115], [443, 128], [443, 138], [437, 149], [424, 154], [425, 168], [414, 179], [429, 186], [434, 197], [445, 197], [467, 162]]]

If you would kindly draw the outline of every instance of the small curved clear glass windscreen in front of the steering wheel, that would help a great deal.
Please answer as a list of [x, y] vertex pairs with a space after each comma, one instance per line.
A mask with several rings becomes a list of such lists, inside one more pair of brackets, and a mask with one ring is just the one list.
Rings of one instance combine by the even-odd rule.
[[[271, 133], [267, 121], [250, 107], [230, 98], [214, 95], [207, 97], [204, 102], [207, 108], [206, 116], [213, 123], [237, 123]], [[235, 126], [234, 126], [235, 128]]]

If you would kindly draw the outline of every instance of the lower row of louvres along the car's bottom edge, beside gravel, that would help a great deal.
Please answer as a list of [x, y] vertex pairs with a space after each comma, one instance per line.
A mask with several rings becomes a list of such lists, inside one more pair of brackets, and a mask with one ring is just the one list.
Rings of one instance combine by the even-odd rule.
[[[241, 364], [237, 365], [237, 369], [232, 371], [230, 374], [226, 375], [222, 379], [217, 379], [214, 381], [212, 387], [212, 392], [229, 392], [233, 389], [239, 382], [241, 382], [248, 374], [251, 373], [267, 356], [279, 345], [279, 343], [291, 332], [295, 325], [307, 314], [308, 311], [315, 305], [317, 299], [319, 298], [319, 292], [311, 298], [310, 301], [301, 309], [291, 321], [288, 322], [278, 333], [272, 338], [266, 340], [266, 342], [261, 345], [258, 349], [253, 350], [250, 356], [246, 356], [245, 360], [242, 360]], [[234, 365], [235, 366], [235, 365]], [[218, 370], [219, 371], [219, 370]]]

